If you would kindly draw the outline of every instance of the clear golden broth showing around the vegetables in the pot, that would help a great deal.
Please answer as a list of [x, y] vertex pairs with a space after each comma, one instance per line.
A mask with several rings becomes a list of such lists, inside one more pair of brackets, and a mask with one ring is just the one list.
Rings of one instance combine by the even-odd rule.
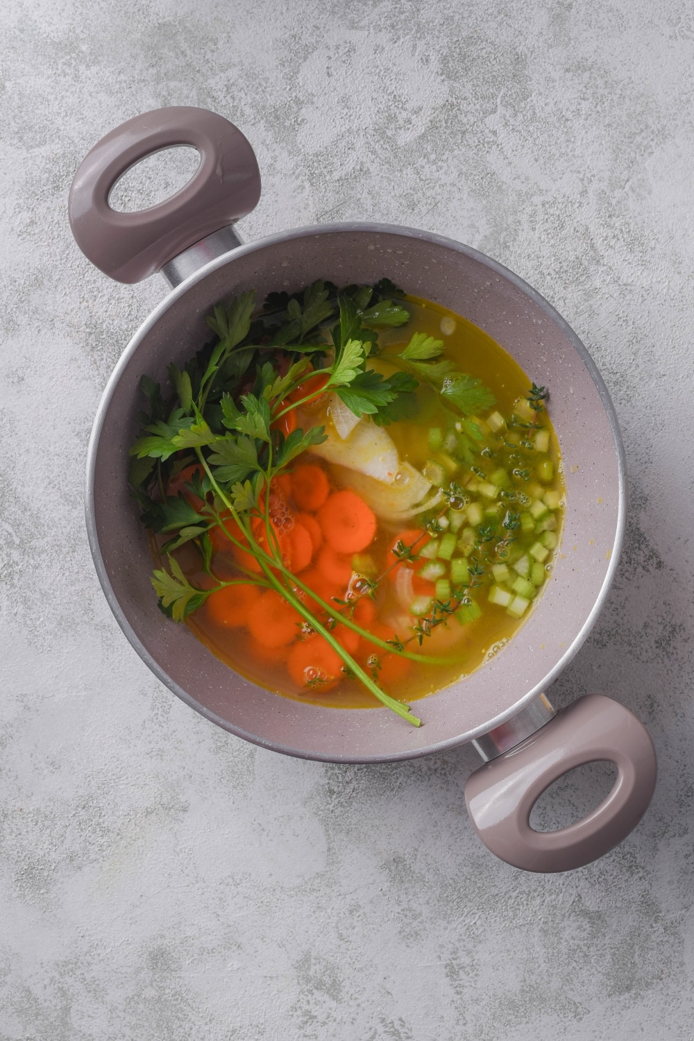
[[[473, 465], [478, 469], [484, 471], [484, 475], [488, 477], [492, 472], [495, 472], [495, 466], [498, 468], [499, 465], [507, 463], [508, 469], [514, 460], [517, 462], [520, 459], [522, 465], [516, 465], [516, 469], [522, 473], [524, 468], [532, 467], [536, 457], [539, 458], [541, 455], [544, 460], [543, 473], [545, 474], [545, 479], [542, 481], [537, 479], [537, 473], [535, 472], [531, 474], [530, 478], [522, 481], [516, 480], [515, 477], [513, 478], [513, 487], [516, 491], [522, 487], [524, 490], [520, 494], [524, 496], [526, 501], [521, 500], [520, 503], [516, 502], [513, 506], [515, 510], [519, 511], [523, 520], [522, 531], [514, 533], [518, 536], [517, 542], [510, 545], [510, 559], [507, 564], [509, 570], [508, 579], [505, 578], [503, 581], [496, 582], [494, 576], [490, 572], [487, 572], [481, 586], [473, 593], [473, 601], [481, 609], [480, 616], [465, 624], [461, 624], [457, 616], [452, 616], [448, 621], [434, 629], [431, 635], [423, 639], [423, 645], [420, 649], [421, 653], [428, 656], [447, 659], [446, 663], [436, 665], [411, 663], [404, 676], [393, 679], [391, 682], [384, 681], [381, 683], [383, 689], [392, 696], [401, 701], [410, 702], [440, 690], [442, 687], [458, 680], [461, 676], [479, 668], [485, 660], [511, 639], [528, 618], [532, 611], [532, 603], [522, 612], [521, 616], [514, 616], [508, 613], [509, 607], [506, 603], [502, 602], [508, 595], [513, 598], [511, 604], [517, 602], [520, 593], [514, 589], [514, 583], [518, 588], [525, 589], [528, 594], [525, 596], [526, 600], [532, 600], [542, 594], [542, 586], [536, 584], [534, 586], [536, 591], [533, 598], [530, 596], [531, 578], [538, 578], [538, 567], [541, 566], [545, 572], [545, 580], [549, 579], [551, 561], [556, 554], [556, 544], [561, 534], [564, 487], [561, 478], [562, 467], [559, 446], [546, 411], [541, 413], [541, 421], [543, 428], [548, 432], [548, 445], [546, 451], [542, 453], [535, 452], [531, 448], [524, 449], [521, 445], [514, 443], [514, 441], [522, 441], [523, 439], [526, 443], [530, 443], [528, 438], [536, 436], [534, 432], [531, 434], [526, 428], [522, 426], [515, 426], [512, 429], [503, 427], [495, 433], [484, 423], [485, 418], [489, 418], [494, 413], [500, 414], [507, 421], [510, 420], [514, 410], [514, 403], [518, 402], [518, 400], [521, 402], [525, 401], [530, 390], [531, 379], [529, 379], [513, 358], [498, 344], [466, 319], [446, 310], [438, 304], [413, 297], [406, 299], [408, 308], [412, 312], [411, 319], [406, 326], [400, 329], [380, 333], [379, 344], [382, 353], [387, 355], [389, 352], [396, 353], [400, 351], [409, 342], [414, 331], [425, 332], [435, 338], [443, 339], [445, 345], [443, 357], [455, 361], [462, 372], [480, 378], [496, 398], [496, 405], [481, 413], [479, 417], [483, 421], [481, 426], [484, 430], [484, 443], [485, 446], [489, 446], [491, 455], [482, 458], [478, 457]], [[383, 372], [384, 375], [393, 370], [393, 366], [380, 356], [372, 361], [369, 360], [368, 367], [375, 367], [377, 371]], [[427, 387], [421, 387], [417, 390], [417, 396], [419, 401], [417, 416], [414, 420], [393, 424], [387, 430], [396, 445], [401, 460], [407, 461], [421, 471], [422, 467], [431, 464], [432, 456], [435, 459], [437, 456], [437, 452], [433, 451], [431, 447], [432, 435], [430, 432], [432, 429], [444, 430], [446, 424], [451, 422], [451, 416], [449, 414], [446, 416], [440, 407], [439, 401], [437, 401], [439, 396], [435, 391]], [[522, 408], [523, 405], [521, 404], [521, 413]], [[526, 404], [524, 408], [528, 409]], [[516, 423], [522, 422], [522, 418], [521, 414], [516, 418]], [[525, 418], [528, 418], [526, 415]], [[318, 415], [317, 418], [314, 417], [313, 422], [330, 423], [330, 420], [324, 414]], [[505, 445], [507, 446], [506, 448], [504, 447]], [[513, 456], [510, 455], [512, 452], [514, 453]], [[444, 461], [453, 458], [452, 453], [446, 452], [439, 452], [438, 457], [443, 458]], [[509, 459], [511, 460], [510, 462]], [[342, 486], [344, 474], [341, 467], [336, 469], [328, 463], [322, 464], [331, 476], [335, 487]], [[496, 524], [498, 528], [497, 534], [494, 536], [494, 541], [491, 542], [493, 547], [495, 541], [503, 538], [504, 535], [504, 530], [499, 527], [504, 511], [503, 509], [499, 510], [499, 502], [494, 498], [490, 498], [489, 482], [484, 482], [487, 485], [488, 493], [487, 498], [485, 498], [474, 487], [475, 482], [478, 485], [480, 484], [480, 478], [470, 469], [469, 464], [461, 462], [453, 473], [451, 472], [451, 462], [447, 462], [446, 465], [448, 466], [446, 478], [451, 478], [464, 486], [465, 496], [468, 500], [465, 507], [465, 519], [462, 527], [458, 529], [459, 532], [462, 532], [460, 539], [467, 538], [468, 540], [468, 542], [463, 543], [464, 548], [469, 544], [470, 537], [469, 534], [465, 536], [465, 531], [479, 531], [480, 525], [484, 526], [484, 524]], [[546, 475], [550, 471], [551, 476], [547, 478]], [[551, 500], [554, 509], [543, 512], [540, 506], [542, 506], [547, 492], [554, 494], [554, 499]], [[503, 498], [503, 491], [500, 497]], [[561, 504], [559, 503], [560, 497], [562, 500]], [[473, 518], [477, 515], [473, 509], [474, 503], [478, 503], [480, 509], [484, 511], [496, 510], [496, 513], [485, 512], [480, 524], [474, 525], [473, 519], [470, 519], [470, 517]], [[540, 506], [537, 504], [540, 504]], [[442, 508], [443, 504], [439, 505], [433, 512], [430, 511], [428, 516], [440, 513]], [[467, 515], [468, 510], [471, 510], [470, 516]], [[532, 510], [535, 510], [535, 513], [538, 515], [537, 519], [533, 517]], [[532, 517], [532, 522], [528, 519], [529, 517]], [[459, 520], [456, 517], [453, 517], [451, 520], [451, 524], [458, 523]], [[389, 563], [393, 562], [394, 558], [392, 558], [392, 555], [389, 555], [389, 550], [399, 531], [414, 529], [420, 526], [421, 523], [416, 516], [396, 525], [389, 524], [387, 519], [379, 522], [376, 539], [368, 550], [365, 551], [377, 565], [379, 575], [387, 569]], [[545, 532], [554, 532], [554, 535], [546, 535]], [[443, 537], [443, 534], [445, 532], [439, 536], [439, 539]], [[543, 539], [544, 542], [541, 543], [538, 539]], [[545, 553], [546, 547], [544, 547], [544, 543], [546, 542], [549, 543], [549, 550]], [[554, 547], [551, 545], [552, 542], [555, 542]], [[461, 542], [457, 544], [460, 545]], [[532, 552], [532, 547], [540, 547], [541, 544], [543, 549], [535, 549], [535, 554], [538, 558], [542, 557], [542, 560], [535, 559], [534, 556], [529, 556]], [[525, 557], [530, 561], [524, 580], [520, 572], [514, 569], [516, 563], [519, 566], [522, 564], [522, 555], [517, 561], [513, 559], [514, 557], [518, 557], [520, 549], [523, 550]], [[484, 554], [484, 552], [489, 553], [491, 551], [485, 551], [483, 547], [481, 552]], [[461, 554], [464, 555], [463, 550], [457, 550], [456, 553], [458, 556]], [[477, 556], [479, 557], [480, 554], [478, 553]], [[472, 550], [467, 555], [467, 559], [473, 561], [474, 557], [475, 551]], [[205, 586], [205, 576], [200, 572], [195, 551], [189, 547], [184, 547], [179, 555], [179, 562], [186, 576], [192, 582], [199, 583], [201, 587]], [[504, 563], [504, 561], [500, 563]], [[426, 561], [419, 566], [425, 565]], [[220, 555], [213, 559], [213, 566], [215, 573], [221, 578], [233, 575], [233, 566], [230, 566]], [[499, 561], [497, 561], [496, 566], [499, 566]], [[535, 569], [533, 570], [533, 568]], [[499, 572], [498, 574], [502, 573]], [[525, 586], [522, 585], [523, 581], [525, 582]], [[209, 585], [207, 587], [209, 588]], [[493, 598], [498, 598], [497, 602], [490, 602], [490, 595], [492, 596], [492, 601]], [[395, 625], [399, 626], [397, 635], [403, 641], [408, 636], [412, 636], [412, 626], [416, 624], [417, 618], [409, 614], [404, 608], [396, 595], [394, 584], [388, 578], [379, 582], [377, 607], [379, 619], [392, 626], [393, 630]], [[409, 632], [405, 630], [403, 619], [409, 626]], [[214, 655], [237, 672], [240, 672], [249, 680], [268, 690], [298, 701], [338, 708], [374, 708], [378, 705], [374, 695], [365, 690], [358, 681], [351, 678], [344, 678], [336, 688], [328, 691], [322, 692], [319, 689], [307, 691], [300, 688], [288, 676], [285, 665], [286, 648], [274, 651], [264, 645], [256, 644], [243, 628], [228, 629], [214, 625], [208, 616], [205, 607], [191, 614], [186, 619], [186, 624]], [[341, 629], [343, 627], [338, 628]], [[365, 626], [365, 628], [368, 628], [368, 626]], [[416, 651], [416, 640], [408, 643], [407, 648], [410, 651]]]

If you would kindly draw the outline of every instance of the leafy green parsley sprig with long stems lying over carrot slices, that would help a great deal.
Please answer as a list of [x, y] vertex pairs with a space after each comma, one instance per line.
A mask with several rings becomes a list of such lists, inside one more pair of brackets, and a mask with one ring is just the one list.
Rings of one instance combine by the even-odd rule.
[[[355, 623], [357, 600], [374, 595], [379, 580], [365, 580], [348, 601], [329, 604], [292, 575], [271, 523], [269, 499], [273, 480], [326, 439], [323, 427], [292, 430], [282, 422], [322, 395], [336, 393], [355, 415], [368, 415], [380, 425], [412, 414], [422, 382], [437, 387], [463, 416], [493, 403], [479, 380], [458, 373], [451, 362], [436, 361], [441, 341], [421, 334], [396, 356], [393, 375], [384, 377], [369, 367], [369, 357], [379, 353], [379, 330], [397, 328], [408, 319], [401, 291], [385, 279], [340, 291], [317, 281], [300, 294], [272, 294], [262, 309], [252, 291], [227, 307], [216, 306], [207, 320], [215, 338], [182, 369], [169, 366], [169, 399], [158, 384], [143, 378], [149, 411], [140, 413], [143, 429], [130, 450], [129, 481], [144, 508], [143, 520], [159, 536], [159, 551], [168, 559], [168, 569], [158, 567], [152, 577], [165, 614], [184, 620], [211, 592], [238, 582], [275, 589], [303, 618], [302, 631], [319, 633], [336, 651], [345, 675], [419, 726], [407, 706], [381, 689], [378, 667], [366, 672], [334, 630], [338, 625], [351, 628], [382, 653], [436, 664], [445, 659], [413, 654], [397, 637], [382, 640]], [[172, 479], [191, 464], [197, 469], [185, 493], [169, 496]], [[220, 579], [211, 566], [210, 532], [215, 529], [251, 553], [260, 574], [239, 567], [238, 579]], [[205, 588], [189, 582], [175, 557], [186, 543], [201, 557]], [[441, 614], [443, 609], [438, 610]], [[325, 624], [316, 612], [327, 615]], [[431, 628], [435, 624], [432, 619]]]

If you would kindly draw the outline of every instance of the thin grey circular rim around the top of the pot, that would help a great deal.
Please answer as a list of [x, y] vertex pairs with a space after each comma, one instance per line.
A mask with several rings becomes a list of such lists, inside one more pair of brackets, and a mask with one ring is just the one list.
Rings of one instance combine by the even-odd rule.
[[[121, 379], [122, 373], [126, 369], [128, 362], [130, 361], [133, 354], [136, 352], [142, 340], [147, 335], [147, 333], [156, 325], [161, 315], [184, 294], [195, 284], [200, 282], [202, 279], [206, 278], [207, 275], [216, 271], [219, 268], [223, 268], [231, 259], [235, 257], [246, 256], [249, 253], [256, 252], [263, 249], [266, 246], [273, 246], [282, 242], [288, 242], [294, 238], [317, 236], [322, 234], [328, 234], [341, 231], [357, 231], [371, 234], [396, 234], [406, 238], [419, 238], [426, 242], [432, 243], [437, 246], [442, 246], [446, 249], [455, 250], [458, 253], [462, 253], [473, 260], [477, 260], [481, 264], [490, 269], [497, 275], [500, 275], [504, 279], [511, 282], [516, 288], [529, 297], [533, 303], [540, 307], [548, 319], [550, 319], [559, 328], [562, 330], [567, 339], [571, 342], [571, 346], [580, 355], [584, 365], [586, 366], [594, 385], [597, 389], [598, 396], [607, 413], [608, 422], [610, 425], [610, 431], [612, 433], [612, 439], [615, 448], [615, 453], [617, 457], [617, 481], [618, 481], [618, 502], [617, 502], [617, 523], [615, 527], [614, 543], [612, 555], [608, 562], [608, 567], [606, 570], [605, 579], [600, 590], [595, 599], [595, 603], [591, 608], [586, 620], [576, 633], [575, 637], [566, 649], [561, 658], [555, 663], [554, 667], [547, 672], [541, 683], [537, 684], [532, 690], [528, 691], [519, 701], [515, 702], [510, 708], [506, 709], [504, 712], [498, 713], [492, 719], [487, 720], [482, 726], [475, 727], [472, 730], [465, 732], [463, 734], [456, 735], [451, 738], [446, 738], [442, 741], [437, 741], [434, 744], [427, 745], [423, 747], [417, 747], [413, 750], [404, 750], [399, 753], [389, 753], [384, 756], [326, 756], [322, 754], [315, 754], [306, 752], [305, 750], [295, 748], [293, 746], [284, 745], [279, 742], [268, 741], [256, 734], [250, 734], [239, 727], [231, 725], [227, 719], [222, 718], [215, 712], [210, 711], [205, 708], [199, 702], [197, 702], [187, 691], [183, 690], [171, 677], [161, 668], [158, 662], [152, 657], [150, 652], [142, 643], [139, 637], [137, 636], [134, 629], [131, 627], [130, 623], [125, 616], [123, 609], [121, 608], [120, 602], [113, 592], [111, 587], [106, 566], [101, 554], [101, 549], [99, 547], [99, 539], [97, 536], [97, 526], [96, 526], [96, 510], [95, 510], [95, 466], [97, 458], [97, 449], [99, 446], [99, 439], [101, 436], [101, 431], [103, 428], [104, 420], [110, 400], [113, 396], [114, 389]], [[554, 683], [554, 681], [560, 676], [560, 674], [566, 668], [571, 659], [577, 654], [579, 650], [588, 637], [591, 629], [597, 620], [605, 601], [610, 591], [610, 587], [614, 581], [615, 572], [619, 563], [619, 558], [621, 556], [622, 543], [624, 539], [624, 531], [626, 526], [626, 463], [625, 463], [625, 453], [624, 446], [621, 438], [621, 433], [619, 430], [619, 424], [617, 421], [617, 414], [615, 407], [610, 398], [610, 393], [605, 384], [602, 377], [600, 376], [595, 362], [591, 358], [590, 354], [584, 347], [583, 342], [575, 334], [573, 329], [568, 325], [568, 323], [562, 318], [562, 315], [544, 299], [536, 289], [529, 285], [523, 279], [518, 275], [514, 274], [504, 264], [499, 263], [497, 260], [493, 260], [491, 257], [487, 256], [485, 253], [481, 253], [479, 250], [474, 250], [469, 246], [465, 246], [462, 243], [458, 243], [455, 239], [447, 238], [444, 235], [437, 235], [433, 232], [421, 231], [415, 228], [408, 228], [403, 225], [392, 225], [392, 224], [378, 224], [372, 222], [335, 222], [331, 224], [317, 224], [308, 225], [306, 227], [293, 228], [286, 232], [276, 232], [273, 235], [267, 235], [263, 238], [255, 239], [251, 243], [247, 243], [243, 246], [238, 246], [227, 253], [215, 257], [213, 260], [208, 261], [202, 268], [199, 268], [196, 272], [184, 279], [179, 285], [172, 289], [163, 300], [150, 312], [147, 319], [142, 323], [139, 328], [133, 334], [128, 345], [124, 349], [121, 357], [119, 358], [113, 372], [111, 373], [106, 386], [104, 388], [101, 401], [97, 408], [97, 412], [94, 420], [94, 426], [92, 428], [92, 434], [89, 436], [89, 442], [86, 455], [86, 480], [85, 480], [85, 497], [84, 497], [84, 512], [86, 520], [86, 531], [87, 538], [89, 542], [89, 550], [92, 552], [92, 558], [94, 560], [94, 565], [101, 584], [101, 588], [104, 592], [106, 601], [115, 617], [117, 623], [123, 630], [128, 641], [132, 648], [137, 652], [139, 657], [143, 659], [146, 665], [154, 672], [154, 675], [166, 686], [169, 689], [181, 699], [186, 705], [196, 712], [200, 713], [210, 722], [216, 723], [224, 730], [234, 734], [243, 740], [250, 741], [252, 744], [257, 744], [260, 747], [269, 748], [274, 752], [282, 753], [283, 755], [289, 755], [299, 759], [309, 759], [317, 760], [323, 762], [340, 762], [340, 763], [377, 763], [377, 762], [397, 762], [406, 759], [416, 759], [420, 756], [432, 755], [437, 752], [444, 752], [448, 748], [457, 747], [460, 744], [466, 744], [484, 734], [489, 733], [502, 723], [507, 722], [513, 716], [517, 715], [523, 708], [525, 708], [532, 701], [543, 693], [547, 687]], [[280, 696], [280, 695], [278, 695]], [[431, 695], [435, 696], [435, 695]], [[345, 711], [342, 709], [335, 711]]]

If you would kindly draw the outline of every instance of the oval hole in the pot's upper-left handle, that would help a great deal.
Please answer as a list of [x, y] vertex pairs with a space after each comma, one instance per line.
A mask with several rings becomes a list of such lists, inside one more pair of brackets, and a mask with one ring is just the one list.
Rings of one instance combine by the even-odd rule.
[[189, 145], [152, 152], [119, 177], [108, 193], [108, 205], [119, 213], [158, 206], [184, 188], [199, 166], [200, 152]]

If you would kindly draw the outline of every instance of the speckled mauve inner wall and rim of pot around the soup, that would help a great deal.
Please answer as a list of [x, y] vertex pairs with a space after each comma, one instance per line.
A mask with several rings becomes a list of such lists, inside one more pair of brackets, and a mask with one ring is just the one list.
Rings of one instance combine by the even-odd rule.
[[[462, 314], [551, 392], [565, 465], [567, 509], [554, 578], [528, 621], [486, 664], [416, 702], [415, 729], [384, 708], [304, 705], [233, 672], [189, 630], [165, 619], [150, 584], [152, 558], [127, 487], [144, 374], [162, 383], [209, 336], [205, 315], [235, 294], [258, 299], [317, 278], [338, 285], [388, 277], [407, 293]], [[423, 755], [470, 740], [546, 689], [587, 635], [618, 556], [623, 467], [612, 405], [575, 335], [542, 299], [466, 247], [407, 229], [324, 226], [250, 244], [171, 294], [124, 353], [106, 388], [89, 452], [87, 526], [104, 591], [151, 668], [192, 708], [278, 751], [366, 762]]]

